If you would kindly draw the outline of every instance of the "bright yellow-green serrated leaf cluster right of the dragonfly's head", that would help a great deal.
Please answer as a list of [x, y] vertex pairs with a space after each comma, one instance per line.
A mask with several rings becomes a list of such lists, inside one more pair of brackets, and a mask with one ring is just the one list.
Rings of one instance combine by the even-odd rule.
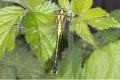
[[[69, 7], [67, 7], [68, 5], [66, 6], [66, 4], [63, 4], [65, 2], [66, 0], [59, 0], [60, 5], [69, 10]], [[69, 4], [71, 6], [70, 8], [73, 11], [73, 14], [77, 15], [77, 17], [72, 20], [72, 23], [70, 24], [70, 31], [75, 31], [84, 40], [95, 46], [96, 44], [88, 25], [98, 30], [104, 30], [110, 27], [119, 27], [120, 25], [101, 8], [90, 9], [92, 2], [92, 0], [71, 1]]]

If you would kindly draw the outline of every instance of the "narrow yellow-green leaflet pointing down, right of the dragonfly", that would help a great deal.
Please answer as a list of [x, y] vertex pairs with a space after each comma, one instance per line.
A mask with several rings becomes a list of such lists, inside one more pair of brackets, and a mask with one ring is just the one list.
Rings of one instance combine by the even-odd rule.
[[94, 38], [89, 31], [88, 25], [84, 21], [80, 21], [79, 18], [76, 18], [73, 23], [70, 25], [70, 30], [75, 31], [79, 36], [84, 40], [91, 43], [95, 46]]

